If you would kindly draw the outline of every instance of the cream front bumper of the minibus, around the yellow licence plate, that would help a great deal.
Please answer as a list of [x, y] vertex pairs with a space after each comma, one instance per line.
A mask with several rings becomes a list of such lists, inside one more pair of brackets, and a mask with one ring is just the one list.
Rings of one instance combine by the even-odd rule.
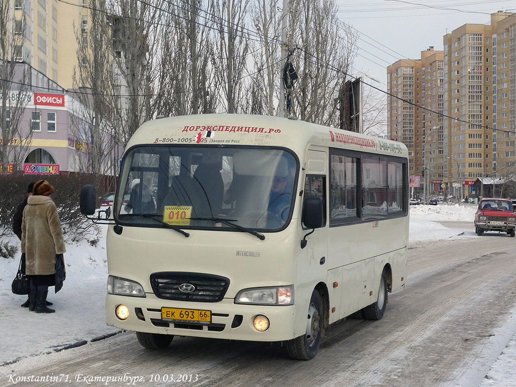
[[[125, 320], [116, 316], [119, 305], [125, 305], [128, 309]], [[199, 324], [166, 320], [162, 318], [162, 308], [210, 311], [211, 322]], [[259, 332], [254, 329], [253, 319], [257, 315], [267, 317], [267, 330]], [[106, 296], [107, 325], [136, 332], [274, 342], [295, 337], [294, 317], [295, 305], [235, 304], [233, 299], [226, 298], [214, 303], [172, 301], [159, 299], [152, 293], [141, 298], [112, 294]]]

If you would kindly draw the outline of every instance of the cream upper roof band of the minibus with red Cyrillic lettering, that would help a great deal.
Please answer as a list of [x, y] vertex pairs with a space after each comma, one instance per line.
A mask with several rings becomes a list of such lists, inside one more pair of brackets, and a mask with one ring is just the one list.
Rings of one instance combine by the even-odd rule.
[[407, 157], [397, 141], [272, 116], [205, 114], [143, 123], [127, 144], [275, 146], [304, 152], [307, 144]]

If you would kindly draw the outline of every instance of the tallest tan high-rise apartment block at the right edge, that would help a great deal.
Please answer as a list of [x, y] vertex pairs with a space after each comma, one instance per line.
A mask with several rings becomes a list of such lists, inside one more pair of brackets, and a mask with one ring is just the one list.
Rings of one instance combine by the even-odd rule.
[[454, 197], [478, 196], [473, 187], [477, 178], [515, 174], [514, 113], [510, 122], [515, 22], [514, 13], [500, 11], [491, 14], [489, 25], [464, 24], [443, 38], [449, 117], [444, 118], [448, 130], [444, 169]]

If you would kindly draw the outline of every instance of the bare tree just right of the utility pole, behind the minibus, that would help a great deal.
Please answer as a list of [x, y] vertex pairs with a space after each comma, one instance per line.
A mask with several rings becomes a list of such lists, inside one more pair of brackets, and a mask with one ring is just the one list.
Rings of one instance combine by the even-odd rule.
[[289, 47], [299, 80], [293, 99], [304, 121], [338, 126], [338, 90], [349, 74], [357, 35], [340, 25], [333, 0], [293, 0]]

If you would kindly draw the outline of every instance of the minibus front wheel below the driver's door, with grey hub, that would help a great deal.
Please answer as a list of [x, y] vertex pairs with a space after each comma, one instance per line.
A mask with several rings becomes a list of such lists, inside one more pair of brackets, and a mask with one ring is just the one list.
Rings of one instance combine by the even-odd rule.
[[307, 316], [307, 331], [287, 341], [288, 355], [292, 359], [310, 360], [315, 357], [322, 337], [322, 302], [319, 292], [314, 290]]

